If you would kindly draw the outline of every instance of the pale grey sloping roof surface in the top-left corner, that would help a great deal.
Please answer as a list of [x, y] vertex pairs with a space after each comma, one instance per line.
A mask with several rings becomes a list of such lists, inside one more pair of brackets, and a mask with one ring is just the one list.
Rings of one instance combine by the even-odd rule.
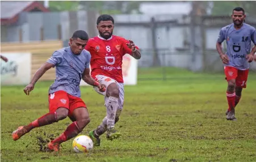
[[1, 19], [10, 19], [34, 1], [1, 1]]

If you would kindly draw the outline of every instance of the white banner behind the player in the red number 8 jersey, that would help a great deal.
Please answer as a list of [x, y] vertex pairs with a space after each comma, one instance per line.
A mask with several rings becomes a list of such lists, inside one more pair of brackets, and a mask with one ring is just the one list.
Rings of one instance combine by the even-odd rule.
[[[138, 61], [129, 54], [123, 56], [123, 78], [124, 85], [136, 85], [137, 84], [137, 68]], [[81, 80], [80, 86], [88, 86], [83, 80]]]

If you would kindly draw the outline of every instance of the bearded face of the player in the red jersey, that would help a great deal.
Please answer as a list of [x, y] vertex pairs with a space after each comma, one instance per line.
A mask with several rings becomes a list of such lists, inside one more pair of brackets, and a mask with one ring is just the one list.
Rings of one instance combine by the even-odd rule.
[[114, 24], [112, 23], [111, 20], [101, 21], [97, 25], [97, 29], [99, 31], [99, 35], [107, 40], [112, 36]]

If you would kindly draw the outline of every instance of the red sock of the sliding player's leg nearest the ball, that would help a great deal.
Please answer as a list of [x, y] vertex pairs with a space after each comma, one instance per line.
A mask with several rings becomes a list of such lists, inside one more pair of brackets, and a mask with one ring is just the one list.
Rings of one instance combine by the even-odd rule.
[[66, 140], [75, 137], [80, 132], [81, 130], [77, 126], [77, 121], [75, 121], [66, 128], [66, 130], [60, 135], [60, 137], [54, 139], [52, 142], [61, 144], [62, 142], [65, 142]]

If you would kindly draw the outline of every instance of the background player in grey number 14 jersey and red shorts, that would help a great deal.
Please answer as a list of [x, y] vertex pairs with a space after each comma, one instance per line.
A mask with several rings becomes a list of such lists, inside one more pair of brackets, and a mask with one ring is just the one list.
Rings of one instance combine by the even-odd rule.
[[[228, 99], [227, 120], [235, 120], [234, 108], [241, 98], [242, 88], [246, 88], [249, 73], [249, 62], [253, 61], [256, 52], [256, 31], [249, 24], [244, 23], [245, 11], [241, 7], [233, 10], [233, 24], [223, 27], [217, 40], [216, 48], [220, 58], [224, 63], [228, 89], [226, 97]], [[227, 52], [224, 54], [221, 43], [226, 40]], [[251, 50], [251, 41], [254, 47]]]

